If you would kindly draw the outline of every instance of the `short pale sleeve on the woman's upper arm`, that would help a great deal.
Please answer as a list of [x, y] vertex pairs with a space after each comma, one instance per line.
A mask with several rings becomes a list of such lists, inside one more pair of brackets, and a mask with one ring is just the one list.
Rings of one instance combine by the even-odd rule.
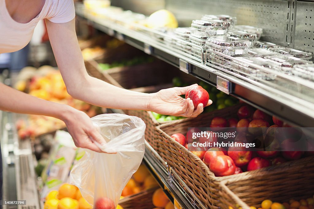
[[57, 0], [51, 17], [47, 19], [53, 23], [67, 23], [74, 19], [75, 9], [73, 0]]

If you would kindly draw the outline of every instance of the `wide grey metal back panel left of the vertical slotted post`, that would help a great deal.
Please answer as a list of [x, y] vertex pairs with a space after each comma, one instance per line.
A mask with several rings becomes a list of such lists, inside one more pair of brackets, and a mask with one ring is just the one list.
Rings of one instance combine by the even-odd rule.
[[[202, 14], [229, 14], [238, 19], [238, 24], [247, 24], [264, 29], [264, 40], [286, 45], [288, 1], [274, 0], [166, 0], [166, 8], [174, 12], [183, 24]], [[186, 25], [187, 26], [187, 25]]]

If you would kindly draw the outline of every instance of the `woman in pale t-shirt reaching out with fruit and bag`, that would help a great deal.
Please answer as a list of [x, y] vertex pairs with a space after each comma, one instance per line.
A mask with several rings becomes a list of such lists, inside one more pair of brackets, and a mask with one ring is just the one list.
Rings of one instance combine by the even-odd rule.
[[[165, 115], [196, 117], [203, 111], [203, 104], [194, 110], [189, 98], [180, 97], [191, 86], [146, 94], [121, 89], [89, 76], [78, 45], [74, 17], [73, 0], [0, 0], [0, 54], [23, 48], [29, 43], [38, 21], [45, 19], [57, 65], [73, 98], [100, 107], [147, 110]], [[32, 97], [3, 84], [0, 88], [1, 110], [59, 118], [67, 125], [77, 147], [100, 152], [93, 140], [103, 144], [104, 139], [84, 112]], [[209, 100], [207, 105], [211, 103]]]

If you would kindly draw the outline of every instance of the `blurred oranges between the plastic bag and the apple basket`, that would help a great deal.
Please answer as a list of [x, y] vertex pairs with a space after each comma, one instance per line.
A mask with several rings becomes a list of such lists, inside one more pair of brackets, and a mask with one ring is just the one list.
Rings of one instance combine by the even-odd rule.
[[133, 174], [132, 178], [122, 190], [122, 198], [125, 196], [137, 194], [140, 191], [147, 190], [158, 186], [157, 181], [144, 165], [140, 165], [138, 170]]

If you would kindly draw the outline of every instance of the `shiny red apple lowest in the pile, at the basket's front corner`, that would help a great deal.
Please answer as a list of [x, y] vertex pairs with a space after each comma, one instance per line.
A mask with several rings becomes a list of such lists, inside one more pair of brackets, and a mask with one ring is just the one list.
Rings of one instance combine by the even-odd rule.
[[236, 171], [236, 165], [227, 155], [218, 155], [210, 159], [209, 169], [216, 176], [232, 175]]

